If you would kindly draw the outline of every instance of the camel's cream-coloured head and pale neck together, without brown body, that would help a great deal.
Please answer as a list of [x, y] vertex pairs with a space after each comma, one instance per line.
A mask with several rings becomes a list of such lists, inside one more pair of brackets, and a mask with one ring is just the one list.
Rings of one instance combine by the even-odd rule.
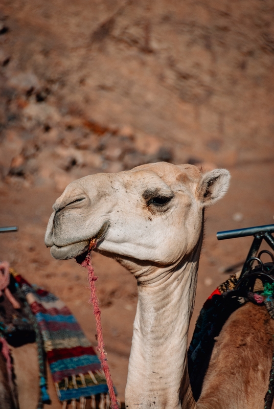
[[157, 163], [86, 176], [56, 200], [45, 244], [56, 259], [96, 251], [136, 278], [139, 301], [126, 387], [129, 408], [194, 407], [186, 365], [203, 209], [222, 197], [229, 172]]

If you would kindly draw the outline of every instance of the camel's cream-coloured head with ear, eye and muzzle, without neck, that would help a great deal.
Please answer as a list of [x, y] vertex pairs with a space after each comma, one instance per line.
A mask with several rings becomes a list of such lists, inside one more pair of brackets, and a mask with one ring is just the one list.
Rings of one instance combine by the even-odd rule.
[[45, 244], [56, 259], [83, 254], [95, 239], [96, 251], [129, 269], [174, 264], [195, 247], [203, 209], [225, 194], [229, 179], [225, 169], [202, 174], [165, 162], [85, 176], [54, 203]]

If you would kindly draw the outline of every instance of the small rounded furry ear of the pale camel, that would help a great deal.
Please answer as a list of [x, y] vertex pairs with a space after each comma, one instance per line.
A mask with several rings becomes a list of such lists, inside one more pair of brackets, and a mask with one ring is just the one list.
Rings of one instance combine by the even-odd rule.
[[197, 195], [203, 207], [211, 206], [221, 199], [230, 186], [230, 172], [226, 169], [214, 169], [202, 176]]

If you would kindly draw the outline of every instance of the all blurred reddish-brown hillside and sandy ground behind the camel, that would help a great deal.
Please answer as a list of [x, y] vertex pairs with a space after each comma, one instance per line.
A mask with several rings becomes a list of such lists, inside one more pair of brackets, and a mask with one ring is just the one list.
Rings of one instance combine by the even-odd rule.
[[[51, 206], [96, 172], [162, 160], [229, 169], [229, 193], [207, 211], [193, 331], [252, 241], [216, 232], [273, 222], [273, 21], [271, 0], [2, 0], [0, 225], [19, 231], [0, 236], [0, 259], [57, 294], [93, 344], [86, 272], [43, 244]], [[114, 261], [94, 266], [123, 401], [136, 283]]]

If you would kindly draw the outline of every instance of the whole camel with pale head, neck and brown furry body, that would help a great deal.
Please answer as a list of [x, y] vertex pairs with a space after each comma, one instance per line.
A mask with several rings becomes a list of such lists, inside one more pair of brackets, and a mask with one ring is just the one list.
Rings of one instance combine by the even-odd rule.
[[73, 181], [53, 205], [45, 244], [59, 260], [90, 239], [137, 280], [125, 404], [129, 409], [263, 408], [274, 350], [264, 307], [235, 311], [216, 339], [200, 398], [187, 368], [204, 209], [229, 188], [225, 169], [155, 163]]

